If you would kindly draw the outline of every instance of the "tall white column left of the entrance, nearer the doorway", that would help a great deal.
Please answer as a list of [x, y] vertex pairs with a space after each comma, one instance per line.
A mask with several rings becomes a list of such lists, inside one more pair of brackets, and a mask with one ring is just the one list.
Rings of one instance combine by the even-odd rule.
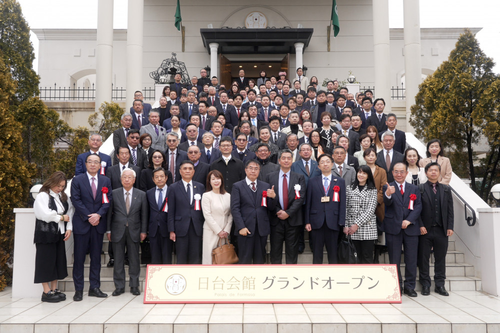
[[142, 86], [142, 29], [144, 23], [144, 1], [128, 0], [126, 35], [126, 107], [133, 103], [133, 92]]

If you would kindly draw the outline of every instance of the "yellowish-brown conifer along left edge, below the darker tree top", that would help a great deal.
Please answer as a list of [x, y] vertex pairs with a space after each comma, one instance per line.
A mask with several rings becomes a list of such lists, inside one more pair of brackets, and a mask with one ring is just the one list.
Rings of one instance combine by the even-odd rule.
[[0, 57], [0, 291], [12, 280], [11, 264], [14, 236], [13, 209], [24, 207], [34, 168], [19, 154], [22, 137], [9, 104], [14, 97], [15, 82]]

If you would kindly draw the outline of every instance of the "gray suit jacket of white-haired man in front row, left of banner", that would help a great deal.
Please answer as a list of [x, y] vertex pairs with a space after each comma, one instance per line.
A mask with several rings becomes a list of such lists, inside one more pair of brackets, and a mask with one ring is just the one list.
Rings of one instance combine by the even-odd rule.
[[147, 233], [148, 205], [145, 192], [134, 188], [130, 196], [130, 209], [125, 209], [123, 188], [113, 190], [116, 198], [111, 201], [107, 212], [107, 231], [111, 231], [111, 242], [117, 243], [123, 237], [128, 224], [130, 238], [135, 243], [140, 242], [140, 234]]

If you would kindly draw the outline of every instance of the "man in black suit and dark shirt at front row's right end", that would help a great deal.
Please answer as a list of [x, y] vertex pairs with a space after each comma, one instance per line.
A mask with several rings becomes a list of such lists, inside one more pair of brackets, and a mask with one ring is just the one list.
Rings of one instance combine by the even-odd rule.
[[[418, 236], [418, 275], [421, 294], [430, 295], [429, 258], [434, 250], [434, 291], [449, 296], [444, 289], [446, 279], [446, 252], [448, 237], [453, 235], [453, 197], [448, 185], [439, 184], [441, 167], [432, 162], [425, 166], [427, 182], [420, 184], [422, 211], [420, 236]], [[422, 193], [423, 192], [423, 193]]]

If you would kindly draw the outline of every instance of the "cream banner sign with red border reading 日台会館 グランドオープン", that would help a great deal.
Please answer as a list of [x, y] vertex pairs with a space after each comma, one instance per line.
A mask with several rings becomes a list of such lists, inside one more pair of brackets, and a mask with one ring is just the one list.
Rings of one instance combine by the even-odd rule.
[[401, 303], [396, 265], [147, 265], [144, 303]]

